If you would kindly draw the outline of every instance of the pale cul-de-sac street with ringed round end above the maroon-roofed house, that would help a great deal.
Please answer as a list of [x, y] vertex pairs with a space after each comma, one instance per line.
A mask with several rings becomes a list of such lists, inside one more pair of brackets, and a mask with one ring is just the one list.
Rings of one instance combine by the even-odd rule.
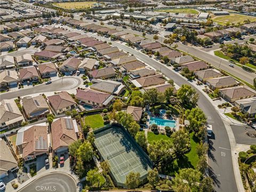
[[48, 84], [48, 85], [41, 84], [35, 87], [31, 86], [31, 88], [28, 88], [28, 89], [20, 89], [19, 91], [15, 91], [15, 92], [2, 93], [0, 94], [0, 99], [1, 100], [13, 99], [13, 98], [17, 98], [18, 96], [22, 97], [22, 96], [34, 94], [34, 93], [71, 90], [78, 87], [81, 84], [81, 82], [82, 82], [81, 78], [63, 77], [63, 81], [62, 81], [62, 78], [60, 78], [57, 81], [53, 81], [51, 84]]

